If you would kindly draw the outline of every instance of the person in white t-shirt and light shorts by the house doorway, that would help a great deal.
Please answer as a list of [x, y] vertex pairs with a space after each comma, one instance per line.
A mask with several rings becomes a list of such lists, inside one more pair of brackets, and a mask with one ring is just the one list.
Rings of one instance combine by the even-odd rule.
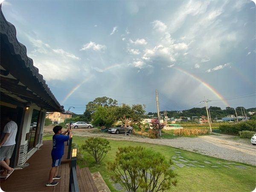
[[0, 166], [4, 168], [3, 175], [1, 178], [8, 178], [14, 169], [10, 167], [10, 158], [12, 157], [12, 153], [15, 147], [15, 138], [17, 134], [17, 124], [12, 121], [10, 116], [5, 116], [8, 123], [5, 125], [3, 129], [3, 137], [0, 141]]

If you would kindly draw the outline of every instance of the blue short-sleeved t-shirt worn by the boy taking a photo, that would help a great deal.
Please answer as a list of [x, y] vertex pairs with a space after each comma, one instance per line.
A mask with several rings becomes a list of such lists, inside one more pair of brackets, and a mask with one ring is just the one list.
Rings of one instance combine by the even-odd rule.
[[52, 159], [57, 160], [64, 154], [64, 142], [69, 140], [68, 135], [53, 135], [52, 136]]

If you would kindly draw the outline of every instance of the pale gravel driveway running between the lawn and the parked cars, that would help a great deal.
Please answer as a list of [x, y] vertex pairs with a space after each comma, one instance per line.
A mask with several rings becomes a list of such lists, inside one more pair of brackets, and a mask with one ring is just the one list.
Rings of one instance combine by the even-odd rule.
[[250, 140], [234, 140], [234, 136], [230, 135], [218, 134], [201, 137], [178, 137], [175, 139], [150, 139], [133, 134], [125, 136], [124, 134], [99, 133], [97, 128], [74, 129], [73, 134], [82, 137], [104, 137], [111, 140], [168, 145], [212, 157], [256, 166], [256, 145], [250, 144]]

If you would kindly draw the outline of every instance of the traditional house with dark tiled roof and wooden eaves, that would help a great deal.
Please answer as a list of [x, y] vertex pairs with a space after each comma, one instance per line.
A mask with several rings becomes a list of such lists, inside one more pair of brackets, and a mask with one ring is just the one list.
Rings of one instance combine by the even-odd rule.
[[[10, 166], [20, 166], [42, 145], [47, 111], [64, 111], [38, 68], [16, 38], [16, 29], [0, 12], [0, 118], [11, 115], [18, 125]], [[1, 121], [1, 131], [5, 122]]]

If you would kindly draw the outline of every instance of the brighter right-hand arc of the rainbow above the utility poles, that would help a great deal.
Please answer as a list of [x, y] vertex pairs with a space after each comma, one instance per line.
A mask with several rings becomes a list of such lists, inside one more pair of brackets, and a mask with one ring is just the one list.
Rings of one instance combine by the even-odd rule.
[[[192, 79], [195, 79], [196, 81], [200, 82], [201, 84], [204, 85], [204, 87], [206, 87], [208, 90], [210, 90], [210, 91], [211, 91], [215, 96], [217, 96], [219, 99], [224, 99], [223, 96], [221, 96], [220, 93], [218, 93], [213, 87], [211, 87], [208, 83], [204, 82], [204, 81], [203, 81], [202, 79], [200, 79], [199, 77], [197, 77], [197, 76], [195, 76], [195, 75], [193, 75], [193, 74], [191, 74], [191, 73], [189, 73], [189, 72], [187, 72], [187, 71], [185, 71], [185, 70], [183, 70], [183, 69], [181, 69], [181, 68], [179, 68], [179, 67], [172, 67], [172, 68], [174, 68], [175, 70], [178, 70], [178, 71], [180, 71], [181, 73], [183, 73], [183, 74], [185, 74], [185, 75], [191, 77]], [[230, 106], [227, 101], [222, 100], [222, 102], [223, 102], [227, 107]]]

